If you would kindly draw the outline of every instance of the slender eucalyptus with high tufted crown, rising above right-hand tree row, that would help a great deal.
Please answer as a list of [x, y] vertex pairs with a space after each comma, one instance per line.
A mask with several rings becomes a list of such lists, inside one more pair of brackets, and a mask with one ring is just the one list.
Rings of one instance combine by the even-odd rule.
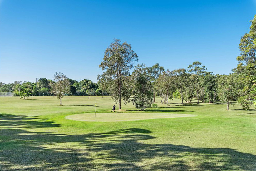
[[207, 69], [205, 66], [201, 66], [202, 63], [195, 61], [192, 65], [188, 66], [188, 71], [191, 72], [192, 78], [195, 83], [196, 95], [197, 95], [197, 103], [199, 104], [199, 76]]

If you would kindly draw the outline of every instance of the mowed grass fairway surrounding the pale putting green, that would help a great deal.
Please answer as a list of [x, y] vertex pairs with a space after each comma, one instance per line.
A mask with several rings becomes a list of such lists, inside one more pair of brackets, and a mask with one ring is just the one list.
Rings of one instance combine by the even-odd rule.
[[[160, 98], [156, 102], [160, 102]], [[110, 113], [111, 97], [0, 97], [0, 170], [256, 170], [256, 110], [180, 104], [124, 113], [194, 117], [122, 122], [65, 119]], [[117, 106], [117, 105], [116, 105]], [[91, 114], [89, 114], [91, 113]], [[103, 115], [103, 114], [102, 114]], [[116, 118], [115, 118], [116, 119]], [[114, 120], [114, 119], [113, 119]]]

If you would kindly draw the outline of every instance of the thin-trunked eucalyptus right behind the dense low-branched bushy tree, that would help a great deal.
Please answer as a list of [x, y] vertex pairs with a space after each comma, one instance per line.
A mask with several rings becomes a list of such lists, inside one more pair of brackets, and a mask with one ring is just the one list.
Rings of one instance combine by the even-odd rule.
[[[156, 63], [152, 67], [147, 67], [148, 73], [150, 75], [150, 80], [153, 85], [155, 85], [156, 79], [159, 77], [159, 75], [165, 70], [164, 67], [160, 66], [159, 63]], [[155, 91], [156, 88], [154, 87], [154, 102], [155, 102]]]

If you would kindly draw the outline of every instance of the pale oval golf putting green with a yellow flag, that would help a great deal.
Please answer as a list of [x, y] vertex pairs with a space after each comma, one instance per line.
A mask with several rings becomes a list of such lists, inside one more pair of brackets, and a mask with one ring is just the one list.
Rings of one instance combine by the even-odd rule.
[[75, 121], [94, 121], [94, 122], [117, 122], [117, 121], [136, 121], [145, 119], [159, 118], [180, 118], [192, 117], [190, 114], [171, 114], [171, 113], [84, 113], [68, 115], [65, 118]]

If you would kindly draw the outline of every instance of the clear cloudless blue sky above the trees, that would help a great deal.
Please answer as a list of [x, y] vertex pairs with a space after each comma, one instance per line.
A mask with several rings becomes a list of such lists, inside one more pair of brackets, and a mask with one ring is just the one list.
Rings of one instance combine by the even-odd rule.
[[147, 66], [173, 70], [200, 61], [228, 74], [255, 14], [256, 0], [0, 0], [0, 82], [55, 72], [97, 81], [114, 38], [131, 44]]

